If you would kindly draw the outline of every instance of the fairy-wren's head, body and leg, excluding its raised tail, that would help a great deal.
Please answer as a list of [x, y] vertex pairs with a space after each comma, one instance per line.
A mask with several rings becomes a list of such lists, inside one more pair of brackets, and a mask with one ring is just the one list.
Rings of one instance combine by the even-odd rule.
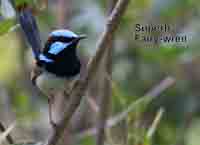
[[[49, 120], [53, 126], [52, 101], [55, 92], [65, 92], [70, 89], [72, 82], [78, 79], [81, 63], [77, 56], [77, 45], [86, 35], [77, 35], [68, 29], [52, 31], [41, 52], [34, 53], [37, 69], [32, 71], [31, 80], [49, 101]], [[68, 92], [67, 92], [68, 93]]]

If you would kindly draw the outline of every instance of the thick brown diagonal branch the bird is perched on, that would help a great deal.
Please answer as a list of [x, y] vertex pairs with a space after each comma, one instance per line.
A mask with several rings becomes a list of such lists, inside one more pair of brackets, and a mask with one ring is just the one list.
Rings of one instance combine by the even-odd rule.
[[88, 84], [91, 82], [94, 74], [99, 67], [101, 58], [103, 57], [106, 49], [108, 48], [108, 43], [114, 37], [114, 32], [119, 25], [120, 19], [125, 12], [129, 0], [118, 0], [114, 10], [108, 18], [106, 27], [102, 36], [97, 43], [97, 52], [95, 56], [89, 61], [87, 66], [87, 73], [80, 80], [74, 83], [74, 86], [70, 93], [69, 105], [64, 111], [63, 118], [58, 122], [58, 127], [53, 130], [53, 133], [47, 140], [47, 145], [57, 145], [59, 139], [62, 137], [64, 130], [68, 127], [69, 121], [78, 108], [81, 98], [88, 88]]

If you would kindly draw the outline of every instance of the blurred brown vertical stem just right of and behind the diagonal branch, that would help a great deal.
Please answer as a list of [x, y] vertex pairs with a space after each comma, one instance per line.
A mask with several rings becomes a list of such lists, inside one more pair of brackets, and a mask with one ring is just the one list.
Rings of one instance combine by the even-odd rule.
[[[108, 1], [108, 15], [111, 14], [116, 0], [109, 0]], [[99, 112], [99, 120], [98, 120], [98, 133], [97, 133], [97, 145], [103, 145], [105, 142], [105, 126], [106, 120], [109, 116], [110, 112], [110, 105], [111, 105], [111, 82], [108, 80], [107, 75], [111, 78], [112, 75], [112, 53], [113, 53], [113, 39], [108, 41], [108, 48], [106, 49], [106, 53], [104, 55], [104, 71], [105, 74], [103, 75], [103, 88], [102, 88], [102, 96], [100, 98], [100, 112]], [[105, 76], [106, 75], [106, 76]]]

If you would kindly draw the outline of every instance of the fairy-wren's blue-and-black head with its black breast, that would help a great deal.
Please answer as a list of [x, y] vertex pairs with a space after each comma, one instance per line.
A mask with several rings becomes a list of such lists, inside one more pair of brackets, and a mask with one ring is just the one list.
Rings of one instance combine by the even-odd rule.
[[85, 35], [77, 35], [67, 29], [54, 30], [49, 34], [37, 65], [60, 76], [79, 72], [80, 60], [76, 54], [76, 46], [84, 38]]

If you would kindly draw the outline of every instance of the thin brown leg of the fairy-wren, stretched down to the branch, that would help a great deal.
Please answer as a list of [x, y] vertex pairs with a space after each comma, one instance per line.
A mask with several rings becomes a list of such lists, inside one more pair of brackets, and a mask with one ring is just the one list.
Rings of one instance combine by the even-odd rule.
[[52, 125], [53, 128], [56, 128], [56, 123], [53, 121], [53, 115], [52, 115], [52, 104], [54, 102], [54, 95], [50, 94], [48, 97], [48, 105], [49, 105], [49, 122]]

